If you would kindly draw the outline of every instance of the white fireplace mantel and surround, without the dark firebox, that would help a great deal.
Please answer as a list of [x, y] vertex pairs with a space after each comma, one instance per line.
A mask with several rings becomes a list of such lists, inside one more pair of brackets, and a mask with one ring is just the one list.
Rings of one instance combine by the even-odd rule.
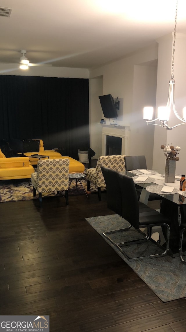
[[102, 125], [102, 156], [106, 154], [106, 136], [121, 137], [121, 154], [128, 154], [128, 129], [129, 126], [101, 124]]

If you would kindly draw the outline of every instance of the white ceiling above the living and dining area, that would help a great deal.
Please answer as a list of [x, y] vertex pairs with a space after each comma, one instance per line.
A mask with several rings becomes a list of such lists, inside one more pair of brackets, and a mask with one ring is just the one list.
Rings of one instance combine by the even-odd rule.
[[[0, 0], [0, 63], [93, 68], [174, 31], [176, 0]], [[178, 0], [178, 33], [186, 33], [186, 0]], [[176, 56], [176, 46], [175, 46]]]

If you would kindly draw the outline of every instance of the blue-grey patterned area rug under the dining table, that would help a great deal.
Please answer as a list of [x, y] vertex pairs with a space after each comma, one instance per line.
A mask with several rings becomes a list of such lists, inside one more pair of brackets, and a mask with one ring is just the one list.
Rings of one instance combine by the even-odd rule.
[[[121, 251], [102, 235], [102, 232], [128, 227], [129, 223], [126, 220], [118, 214], [85, 219], [163, 302], [186, 296], [186, 265], [180, 261], [179, 257], [172, 258], [166, 255], [159, 258], [129, 262]], [[133, 232], [138, 233], [134, 228], [125, 232], [128, 233], [128, 240], [129, 232], [132, 234]], [[121, 234], [117, 236], [120, 238]], [[127, 247], [129, 253], [132, 254], [132, 246]], [[125, 246], [125, 250], [127, 247]]]

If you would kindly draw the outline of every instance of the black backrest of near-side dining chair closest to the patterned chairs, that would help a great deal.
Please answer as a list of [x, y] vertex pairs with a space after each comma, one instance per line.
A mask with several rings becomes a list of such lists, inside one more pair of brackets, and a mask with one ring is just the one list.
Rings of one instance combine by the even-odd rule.
[[122, 215], [121, 189], [118, 181], [118, 171], [101, 166], [107, 189], [107, 207]]

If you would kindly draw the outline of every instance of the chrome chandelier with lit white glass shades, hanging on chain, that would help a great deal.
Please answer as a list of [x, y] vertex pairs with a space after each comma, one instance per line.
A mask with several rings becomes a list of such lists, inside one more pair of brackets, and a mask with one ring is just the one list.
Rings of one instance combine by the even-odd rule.
[[[153, 107], [144, 107], [143, 109], [143, 119], [147, 120], [146, 124], [154, 124], [159, 125], [167, 130], [171, 130], [180, 125], [186, 125], [186, 107], [183, 108], [183, 119], [179, 116], [176, 111], [175, 102], [174, 102], [174, 52], [175, 52], [175, 39], [176, 39], [176, 23], [177, 23], [177, 6], [178, 0], [176, 0], [176, 14], [175, 14], [175, 24], [174, 24], [174, 39], [173, 39], [173, 52], [172, 52], [172, 72], [171, 72], [171, 79], [169, 81], [169, 91], [168, 91], [168, 101], [166, 106], [158, 107], [158, 118], [152, 120], [153, 118]], [[182, 122], [180, 124], [176, 124], [173, 127], [169, 127], [166, 123], [169, 120], [170, 116], [170, 109], [173, 109], [175, 116]], [[160, 120], [161, 124], [152, 123], [154, 121]]]

